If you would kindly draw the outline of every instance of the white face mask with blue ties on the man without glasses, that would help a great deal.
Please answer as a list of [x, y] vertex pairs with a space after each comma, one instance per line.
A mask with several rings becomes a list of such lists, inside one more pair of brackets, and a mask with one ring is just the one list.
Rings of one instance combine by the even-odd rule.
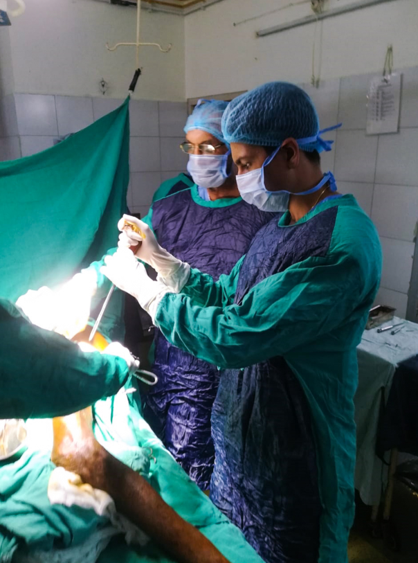
[[[262, 211], [286, 211], [289, 206], [289, 194], [291, 192], [287, 190], [270, 192], [266, 189], [264, 184], [264, 168], [269, 166], [276, 154], [278, 154], [279, 150], [280, 147], [267, 157], [261, 168], [256, 168], [255, 170], [250, 170], [250, 172], [237, 176], [239, 194], [242, 199], [244, 199], [244, 202], [255, 205]], [[325, 186], [328, 181], [331, 191], [335, 191], [336, 183], [334, 176], [331, 172], [327, 172], [322, 177], [322, 180], [314, 186], [314, 188], [294, 195], [307, 195], [309, 193], [314, 193], [320, 190], [322, 186]]]

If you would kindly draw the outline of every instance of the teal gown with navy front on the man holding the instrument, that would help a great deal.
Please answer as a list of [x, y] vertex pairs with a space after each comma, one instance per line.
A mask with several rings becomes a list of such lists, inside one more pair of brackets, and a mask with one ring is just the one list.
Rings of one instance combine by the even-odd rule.
[[[280, 523], [276, 518], [283, 507], [287, 514], [287, 490], [278, 490], [277, 483], [297, 479], [287, 470], [291, 446], [282, 447], [277, 438], [283, 434], [280, 411], [293, 401], [289, 392], [282, 404], [288, 390], [278, 393], [278, 384], [284, 377], [296, 378], [289, 385], [303, 395], [295, 409], [302, 412], [305, 400], [309, 406], [310, 420], [302, 418], [312, 427], [318, 465], [319, 561], [347, 561], [354, 516], [356, 346], [380, 275], [376, 230], [354, 197], [345, 195], [322, 202], [296, 224], [290, 224], [289, 212], [273, 220], [229, 276], [214, 283], [194, 269], [183, 293], [167, 294], [158, 306], [156, 325], [168, 341], [226, 369], [212, 414], [221, 467], [215, 461], [211, 494], [266, 561], [296, 560], [278, 555], [284, 536], [299, 526], [297, 516], [290, 528], [286, 517]], [[270, 474], [271, 488], [257, 497]], [[226, 481], [219, 498], [212, 488]], [[292, 499], [287, 501], [290, 506]], [[298, 542], [303, 538], [296, 537]]]

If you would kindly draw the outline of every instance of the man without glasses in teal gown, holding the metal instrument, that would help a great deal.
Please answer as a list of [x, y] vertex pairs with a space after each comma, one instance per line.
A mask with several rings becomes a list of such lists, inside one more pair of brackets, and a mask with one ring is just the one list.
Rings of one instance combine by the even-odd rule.
[[356, 346], [379, 287], [379, 237], [322, 172], [331, 143], [302, 89], [271, 82], [239, 96], [222, 132], [246, 202], [274, 211], [289, 197], [287, 211], [218, 281], [151, 236], [137, 257], [156, 281], [127, 249], [103, 272], [167, 341], [224, 368], [212, 411], [214, 503], [267, 563], [346, 563]]

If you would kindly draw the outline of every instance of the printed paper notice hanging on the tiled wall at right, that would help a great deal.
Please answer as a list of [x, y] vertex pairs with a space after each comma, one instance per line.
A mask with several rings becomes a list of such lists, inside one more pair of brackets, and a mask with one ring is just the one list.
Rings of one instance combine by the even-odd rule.
[[397, 133], [401, 102], [401, 74], [370, 80], [367, 103], [367, 135]]

